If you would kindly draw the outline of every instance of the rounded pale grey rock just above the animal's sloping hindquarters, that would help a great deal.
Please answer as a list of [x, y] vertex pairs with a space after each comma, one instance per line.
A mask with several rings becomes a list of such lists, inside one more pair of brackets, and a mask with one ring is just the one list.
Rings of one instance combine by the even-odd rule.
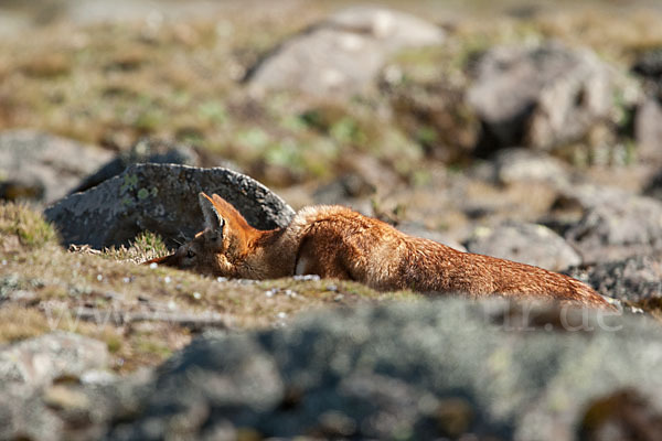
[[581, 262], [579, 255], [563, 237], [536, 224], [511, 222], [494, 228], [479, 227], [467, 243], [467, 249], [552, 271]]

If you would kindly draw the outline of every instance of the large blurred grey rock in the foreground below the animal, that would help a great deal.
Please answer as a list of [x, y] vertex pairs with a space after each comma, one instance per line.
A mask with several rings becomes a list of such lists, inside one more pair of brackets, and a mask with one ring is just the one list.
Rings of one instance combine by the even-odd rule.
[[335, 310], [195, 341], [107, 439], [573, 440], [626, 388], [660, 415], [660, 363], [659, 324], [631, 316], [458, 299]]

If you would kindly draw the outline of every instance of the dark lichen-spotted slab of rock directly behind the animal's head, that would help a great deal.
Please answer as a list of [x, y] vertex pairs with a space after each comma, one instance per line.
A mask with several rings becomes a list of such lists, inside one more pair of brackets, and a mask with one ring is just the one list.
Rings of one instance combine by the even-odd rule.
[[[65, 245], [126, 245], [143, 230], [169, 246], [203, 229], [199, 192], [216, 193], [260, 229], [285, 226], [293, 211], [257, 181], [227, 169], [136, 164], [118, 176], [73, 194], [45, 211]], [[174, 240], [173, 240], [174, 239]]]

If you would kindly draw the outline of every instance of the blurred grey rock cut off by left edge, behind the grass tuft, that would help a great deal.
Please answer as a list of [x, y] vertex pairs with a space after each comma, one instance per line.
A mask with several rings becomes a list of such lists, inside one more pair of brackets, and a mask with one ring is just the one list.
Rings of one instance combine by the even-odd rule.
[[0, 198], [53, 203], [110, 157], [99, 148], [39, 131], [0, 132]]

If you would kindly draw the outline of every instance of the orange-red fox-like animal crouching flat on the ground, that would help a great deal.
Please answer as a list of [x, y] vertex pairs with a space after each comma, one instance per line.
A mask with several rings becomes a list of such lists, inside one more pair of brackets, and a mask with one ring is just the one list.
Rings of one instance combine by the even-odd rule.
[[346, 207], [307, 207], [287, 227], [263, 232], [216, 194], [201, 193], [200, 200], [205, 230], [173, 255], [150, 262], [233, 278], [318, 275], [377, 290], [499, 294], [609, 308], [600, 294], [567, 276], [461, 252]]

